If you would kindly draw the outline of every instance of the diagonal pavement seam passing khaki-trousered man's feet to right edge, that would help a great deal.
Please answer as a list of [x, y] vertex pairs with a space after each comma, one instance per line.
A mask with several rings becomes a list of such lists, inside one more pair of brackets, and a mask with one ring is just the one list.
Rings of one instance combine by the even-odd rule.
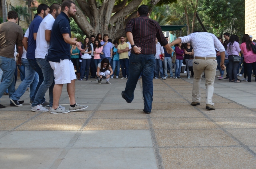
[[[184, 80], [185, 81], [185, 80]], [[165, 83], [165, 82], [164, 82]], [[189, 82], [188, 82], [189, 83]], [[171, 88], [172, 90], [174, 90], [170, 85], [168, 85], [167, 83], [165, 83], [165, 85], [169, 86], [169, 88]], [[206, 90], [206, 89], [204, 89]], [[185, 100], [187, 100], [185, 97], [183, 97], [181, 94], [179, 94], [176, 90], [174, 90], [178, 95], [180, 95], [180, 97], [184, 98]], [[188, 103], [189, 100], [187, 100]], [[239, 104], [239, 103], [237, 103]], [[216, 126], [218, 126], [218, 128], [220, 130], [222, 130], [227, 136], [229, 136], [230, 138], [232, 138], [234, 141], [236, 141], [238, 144], [240, 144], [246, 151], [248, 151], [248, 153], [250, 153], [251, 155], [254, 156], [254, 158], [256, 158], [256, 153], [250, 149], [250, 147], [248, 145], [245, 145], [242, 141], [240, 141], [238, 138], [236, 138], [235, 136], [233, 136], [230, 132], [228, 132], [225, 128], [223, 128], [222, 126], [218, 125], [216, 123], [216, 121], [214, 121], [212, 118], [210, 118], [207, 114], [205, 114], [202, 110], [200, 110], [199, 108], [197, 108], [196, 106], [193, 106], [194, 109], [198, 110], [201, 114], [203, 114], [206, 118], [208, 118], [208, 120], [210, 120], [211, 122], [213, 122]], [[213, 110], [212, 110], [213, 111]]]

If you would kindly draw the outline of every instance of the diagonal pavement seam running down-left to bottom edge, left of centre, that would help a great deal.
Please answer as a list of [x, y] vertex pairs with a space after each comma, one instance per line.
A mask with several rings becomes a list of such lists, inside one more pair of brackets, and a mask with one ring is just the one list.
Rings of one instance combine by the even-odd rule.
[[86, 121], [84, 122], [84, 124], [81, 126], [81, 128], [76, 132], [76, 134], [74, 135], [74, 137], [70, 140], [70, 142], [68, 143], [68, 145], [63, 149], [63, 151], [60, 153], [60, 155], [58, 156], [58, 158], [54, 161], [54, 163], [52, 164], [52, 166], [50, 167], [50, 169], [57, 169], [58, 166], [60, 165], [60, 163], [62, 162], [62, 160], [65, 158], [65, 156], [67, 155], [68, 151], [70, 149], [72, 149], [72, 146], [74, 145], [74, 143], [76, 142], [76, 140], [78, 139], [78, 137], [81, 135], [82, 131], [84, 130], [84, 127], [90, 122], [90, 120], [92, 119], [92, 117], [94, 116], [96, 110], [98, 110], [98, 108], [100, 108], [100, 105], [104, 102], [105, 98], [108, 96], [108, 94], [110, 93], [112, 88], [110, 88], [108, 90], [108, 92], [105, 94], [105, 96], [100, 100], [100, 102], [98, 103], [98, 105], [96, 106], [96, 108], [94, 108], [92, 114], [90, 116], [88, 116], [88, 118], [86, 119]]

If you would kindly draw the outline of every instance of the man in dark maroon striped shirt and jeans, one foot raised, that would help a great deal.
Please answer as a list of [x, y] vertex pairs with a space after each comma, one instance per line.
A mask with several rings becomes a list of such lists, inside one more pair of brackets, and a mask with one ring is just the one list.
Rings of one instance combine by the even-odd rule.
[[131, 103], [134, 90], [142, 72], [142, 87], [144, 109], [146, 114], [151, 113], [153, 101], [153, 76], [156, 54], [156, 38], [161, 46], [167, 50], [173, 49], [168, 45], [158, 22], [148, 18], [148, 6], [141, 5], [137, 11], [138, 18], [133, 18], [126, 25], [126, 36], [131, 43], [129, 63], [129, 78], [122, 97]]

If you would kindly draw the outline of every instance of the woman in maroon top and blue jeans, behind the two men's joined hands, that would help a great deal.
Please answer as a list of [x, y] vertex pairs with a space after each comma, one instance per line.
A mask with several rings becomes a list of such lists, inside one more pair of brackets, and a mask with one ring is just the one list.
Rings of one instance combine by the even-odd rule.
[[179, 43], [178, 46], [175, 47], [174, 51], [176, 53], [175, 79], [178, 79], [178, 78], [181, 79], [180, 69], [181, 69], [181, 65], [182, 65], [182, 62], [183, 62], [183, 57], [184, 57], [184, 54], [185, 54], [184, 47], [183, 47], [182, 43]]

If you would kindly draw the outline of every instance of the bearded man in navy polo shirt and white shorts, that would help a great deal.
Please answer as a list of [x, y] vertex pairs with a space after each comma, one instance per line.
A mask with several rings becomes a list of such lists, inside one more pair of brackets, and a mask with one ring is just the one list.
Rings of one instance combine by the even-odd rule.
[[[54, 21], [48, 50], [47, 60], [54, 70], [53, 105], [51, 114], [69, 113], [88, 108], [86, 105], [76, 103], [75, 99], [75, 69], [70, 58], [70, 45], [76, 45], [80, 51], [82, 44], [71, 38], [70, 17], [76, 13], [76, 5], [71, 0], [64, 0], [61, 5], [61, 13]], [[59, 105], [63, 84], [67, 84], [70, 100], [69, 110]]]

